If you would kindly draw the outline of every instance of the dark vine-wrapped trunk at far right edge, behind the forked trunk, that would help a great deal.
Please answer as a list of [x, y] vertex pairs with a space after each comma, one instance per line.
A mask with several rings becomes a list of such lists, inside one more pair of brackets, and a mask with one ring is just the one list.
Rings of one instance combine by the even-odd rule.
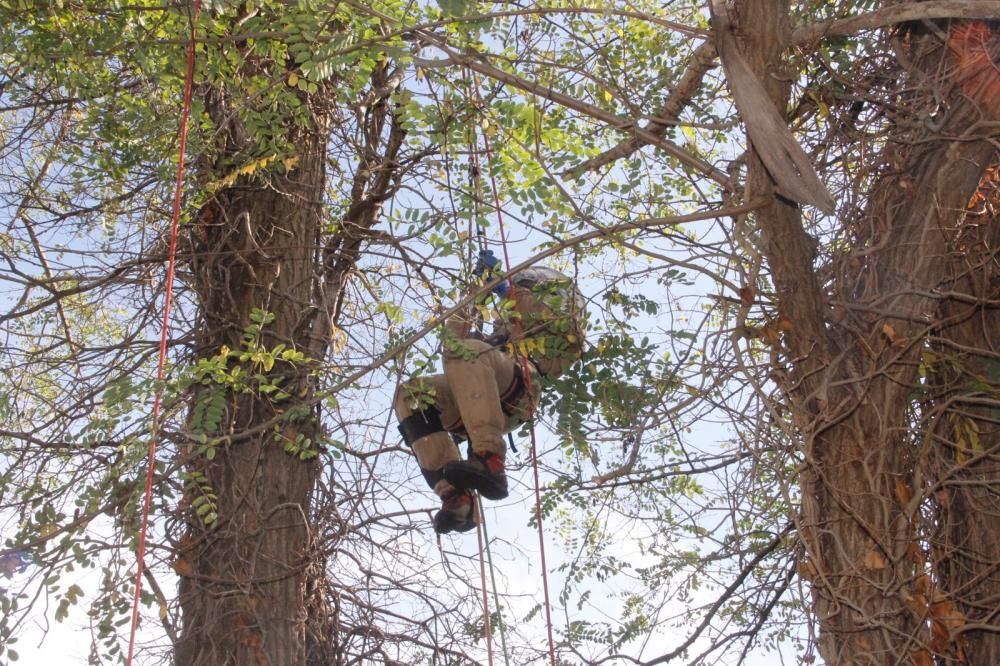
[[933, 646], [968, 664], [1000, 664], [1000, 219], [996, 174], [957, 229], [954, 296], [927, 358], [938, 508], [931, 539]]

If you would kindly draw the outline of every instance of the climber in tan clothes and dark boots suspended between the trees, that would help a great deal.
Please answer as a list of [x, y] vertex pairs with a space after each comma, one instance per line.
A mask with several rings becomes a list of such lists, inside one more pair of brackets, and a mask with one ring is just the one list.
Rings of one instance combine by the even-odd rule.
[[[489, 278], [500, 268], [485, 251], [474, 272]], [[475, 527], [473, 491], [491, 500], [507, 497], [503, 435], [531, 418], [542, 380], [565, 372], [583, 350], [584, 300], [566, 275], [528, 268], [500, 282], [491, 297], [499, 315], [492, 334], [474, 330], [475, 304], [451, 317], [444, 374], [405, 382], [394, 400], [403, 441], [441, 498], [434, 516], [439, 534]], [[467, 460], [456, 445], [462, 440], [469, 443]]]

